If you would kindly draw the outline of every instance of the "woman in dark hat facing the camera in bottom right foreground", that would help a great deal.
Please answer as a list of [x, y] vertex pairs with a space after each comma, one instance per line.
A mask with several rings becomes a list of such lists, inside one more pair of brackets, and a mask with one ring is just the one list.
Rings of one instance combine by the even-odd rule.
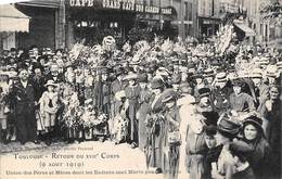
[[269, 178], [269, 166], [271, 164], [271, 150], [266, 140], [261, 125], [262, 119], [256, 116], [251, 116], [243, 120], [242, 129], [243, 141], [252, 148], [248, 161], [257, 179]]

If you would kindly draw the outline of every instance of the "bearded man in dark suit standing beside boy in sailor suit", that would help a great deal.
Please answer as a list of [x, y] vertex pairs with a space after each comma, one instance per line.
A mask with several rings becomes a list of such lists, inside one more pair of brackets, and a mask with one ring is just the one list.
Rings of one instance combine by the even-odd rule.
[[15, 102], [17, 139], [22, 144], [33, 141], [38, 144], [35, 117], [35, 92], [26, 68], [20, 69], [20, 80], [12, 88]]

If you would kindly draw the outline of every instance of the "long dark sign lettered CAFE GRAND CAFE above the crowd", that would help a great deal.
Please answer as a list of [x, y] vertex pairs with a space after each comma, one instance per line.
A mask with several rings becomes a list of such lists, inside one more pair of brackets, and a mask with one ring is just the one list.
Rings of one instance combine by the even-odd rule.
[[70, 7], [77, 8], [100, 8], [123, 11], [133, 11], [139, 13], [166, 14], [170, 15], [171, 8], [159, 8], [136, 3], [134, 0], [68, 0]]

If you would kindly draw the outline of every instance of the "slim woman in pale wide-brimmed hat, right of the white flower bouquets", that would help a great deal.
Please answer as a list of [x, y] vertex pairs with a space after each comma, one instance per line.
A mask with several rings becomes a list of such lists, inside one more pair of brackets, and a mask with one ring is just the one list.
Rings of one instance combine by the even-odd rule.
[[139, 99], [141, 88], [137, 84], [137, 74], [130, 74], [124, 78], [124, 80], [128, 80], [129, 85], [125, 88], [126, 99], [129, 103], [128, 108], [128, 118], [129, 118], [129, 142], [131, 148], [138, 146], [138, 120], [136, 118], [136, 114], [139, 110]]

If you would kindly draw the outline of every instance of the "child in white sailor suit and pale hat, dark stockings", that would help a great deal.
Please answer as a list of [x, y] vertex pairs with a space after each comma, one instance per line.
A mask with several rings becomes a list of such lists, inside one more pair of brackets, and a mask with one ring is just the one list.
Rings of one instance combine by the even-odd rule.
[[55, 91], [57, 87], [53, 80], [48, 80], [46, 84], [47, 91], [43, 92], [39, 100], [40, 114], [43, 118], [43, 128], [46, 129], [47, 144], [51, 144], [51, 135], [55, 126], [56, 112], [59, 110], [59, 94]]

